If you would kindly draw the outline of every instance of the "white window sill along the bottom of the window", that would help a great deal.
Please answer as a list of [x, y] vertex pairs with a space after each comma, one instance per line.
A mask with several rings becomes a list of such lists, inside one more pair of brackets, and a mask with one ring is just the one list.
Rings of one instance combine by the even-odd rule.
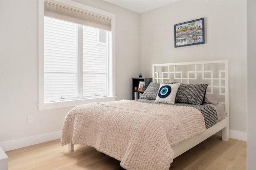
[[90, 99], [78, 99], [78, 100], [66, 100], [66, 101], [58, 101], [58, 102], [47, 102], [38, 104], [38, 110], [45, 109], [56, 109], [62, 107], [72, 107], [80, 104], [88, 104], [92, 102], [111, 102], [115, 101], [116, 96], [113, 97], [102, 97], [102, 98], [90, 98]]

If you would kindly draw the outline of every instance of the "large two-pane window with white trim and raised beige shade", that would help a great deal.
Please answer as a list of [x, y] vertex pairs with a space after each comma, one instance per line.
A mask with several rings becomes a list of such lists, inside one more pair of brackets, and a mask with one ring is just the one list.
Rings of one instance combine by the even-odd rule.
[[[86, 103], [86, 99], [90, 99], [89, 102], [109, 101], [106, 98], [115, 95], [114, 22], [111, 21], [114, 14], [96, 10], [107, 14], [105, 18], [102, 14], [98, 16], [81, 10], [95, 10], [83, 4], [72, 2], [72, 6], [68, 6], [47, 0], [42, 16], [40, 5], [43, 4], [39, 3], [39, 19], [44, 18], [44, 23], [39, 20], [39, 28], [44, 25], [44, 29], [39, 32], [44, 33], [41, 41], [44, 49], [39, 41], [39, 107], [61, 107], [42, 107], [49, 102], [59, 105], [60, 102], [79, 101], [65, 103], [63, 106], [67, 107], [81, 104], [81, 100]], [[105, 100], [100, 99], [102, 97], [106, 97]]]

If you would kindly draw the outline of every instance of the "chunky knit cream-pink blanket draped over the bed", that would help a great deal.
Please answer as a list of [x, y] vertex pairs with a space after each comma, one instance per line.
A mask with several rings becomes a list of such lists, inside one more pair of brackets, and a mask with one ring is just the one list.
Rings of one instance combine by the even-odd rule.
[[168, 170], [171, 147], [204, 131], [204, 117], [193, 107], [121, 100], [74, 107], [61, 144], [92, 146], [127, 170]]

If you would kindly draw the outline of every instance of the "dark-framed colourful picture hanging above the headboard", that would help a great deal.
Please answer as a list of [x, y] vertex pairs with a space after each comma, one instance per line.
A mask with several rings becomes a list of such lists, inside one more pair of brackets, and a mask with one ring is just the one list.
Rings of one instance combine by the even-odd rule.
[[204, 44], [204, 18], [174, 25], [175, 48], [197, 44]]

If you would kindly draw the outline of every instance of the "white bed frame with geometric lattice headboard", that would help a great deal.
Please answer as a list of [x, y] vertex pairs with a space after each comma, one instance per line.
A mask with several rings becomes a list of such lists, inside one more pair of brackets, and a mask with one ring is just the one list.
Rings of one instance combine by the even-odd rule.
[[[212, 65], [216, 65], [215, 67]], [[218, 64], [222, 64], [222, 68], [218, 67]], [[208, 65], [211, 65], [214, 69], [206, 69]], [[179, 71], [178, 67], [189, 68], [182, 69]], [[193, 68], [191, 70], [191, 68]], [[160, 70], [160, 71], [159, 71]], [[222, 130], [222, 140], [228, 141], [229, 139], [229, 97], [228, 97], [228, 60], [219, 61], [200, 61], [200, 62], [187, 62], [187, 63], [168, 63], [168, 64], [153, 64], [153, 82], [162, 83], [168, 82], [170, 80], [175, 80], [181, 83], [187, 83], [194, 80], [208, 81], [209, 84], [206, 94], [211, 94], [214, 96], [214, 89], [217, 88], [218, 95], [224, 96], [224, 102], [220, 102], [225, 105], [225, 119], [218, 122], [216, 125], [206, 129], [206, 131], [200, 135], [196, 135], [174, 147], [174, 158], [191, 149], [192, 147], [198, 145], [205, 139], [214, 135], [218, 131]], [[216, 74], [217, 72], [217, 74]], [[207, 74], [207, 75], [205, 75]], [[186, 75], [186, 76], [184, 76]], [[215, 75], [215, 76], [214, 76]], [[217, 76], [216, 76], [217, 75]], [[185, 82], [186, 81], [186, 82]], [[216, 84], [217, 82], [217, 84]], [[224, 85], [222, 85], [224, 84]], [[224, 90], [224, 92], [222, 91]], [[74, 150], [74, 144], [68, 144], [68, 150]]]

